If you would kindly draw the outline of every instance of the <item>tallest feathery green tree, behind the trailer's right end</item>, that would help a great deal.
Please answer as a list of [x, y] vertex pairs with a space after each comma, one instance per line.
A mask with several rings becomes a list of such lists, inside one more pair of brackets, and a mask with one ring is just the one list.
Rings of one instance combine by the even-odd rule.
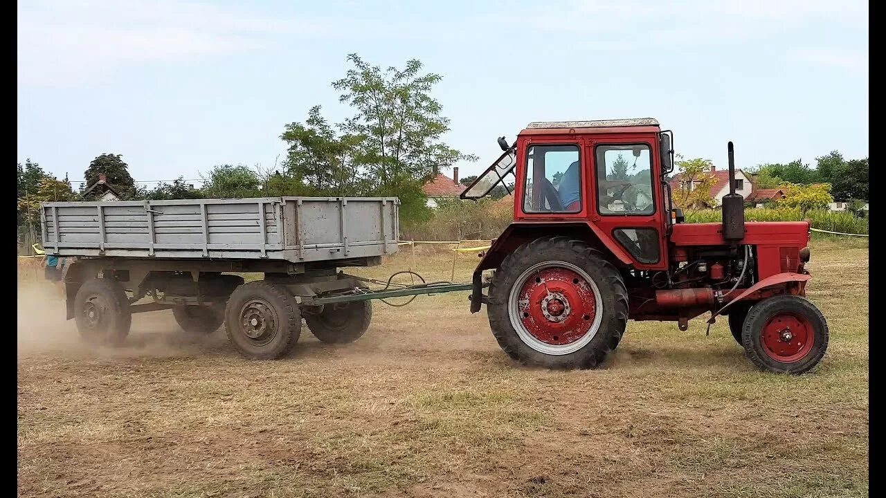
[[332, 83], [341, 91], [339, 101], [354, 107], [356, 114], [341, 130], [359, 137], [354, 144], [369, 192], [400, 197], [404, 221], [427, 218], [422, 185], [431, 179], [434, 167], [443, 170], [460, 160], [475, 161], [443, 143], [449, 120], [442, 106], [431, 97], [441, 77], [422, 74], [422, 63], [408, 60], [406, 67], [371, 66], [356, 54], [347, 60], [354, 66], [344, 78]]

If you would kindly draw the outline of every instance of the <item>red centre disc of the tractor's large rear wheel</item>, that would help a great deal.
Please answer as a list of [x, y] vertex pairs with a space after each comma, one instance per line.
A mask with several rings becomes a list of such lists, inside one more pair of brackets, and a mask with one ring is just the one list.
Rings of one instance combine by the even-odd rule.
[[519, 292], [520, 321], [533, 338], [552, 346], [574, 343], [591, 330], [596, 295], [587, 280], [569, 268], [543, 268], [526, 278]]

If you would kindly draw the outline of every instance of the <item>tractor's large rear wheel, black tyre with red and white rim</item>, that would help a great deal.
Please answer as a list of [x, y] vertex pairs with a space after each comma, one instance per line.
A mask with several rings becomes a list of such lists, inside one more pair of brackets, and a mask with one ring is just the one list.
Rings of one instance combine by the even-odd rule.
[[540, 238], [501, 262], [488, 315], [499, 346], [518, 362], [593, 369], [625, 331], [627, 291], [595, 248], [569, 237]]

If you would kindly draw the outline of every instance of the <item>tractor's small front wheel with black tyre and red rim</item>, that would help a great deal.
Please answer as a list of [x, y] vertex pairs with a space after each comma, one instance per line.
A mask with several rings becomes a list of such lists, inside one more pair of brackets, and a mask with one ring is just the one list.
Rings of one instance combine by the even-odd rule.
[[762, 370], [802, 374], [828, 350], [828, 322], [819, 308], [799, 296], [774, 296], [750, 309], [742, 326], [742, 346]]

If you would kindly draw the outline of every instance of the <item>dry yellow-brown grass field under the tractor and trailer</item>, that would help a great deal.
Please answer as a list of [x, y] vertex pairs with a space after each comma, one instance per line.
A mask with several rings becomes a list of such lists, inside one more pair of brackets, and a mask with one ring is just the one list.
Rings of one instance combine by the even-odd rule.
[[[381, 268], [449, 280], [453, 253]], [[462, 253], [455, 280], [477, 258]], [[520, 368], [467, 292], [374, 304], [367, 334], [247, 361], [223, 331], [136, 315], [94, 350], [19, 280], [19, 496], [867, 496], [867, 242], [815, 240], [831, 342], [803, 377], [758, 372], [725, 320], [628, 323], [600, 370]]]

